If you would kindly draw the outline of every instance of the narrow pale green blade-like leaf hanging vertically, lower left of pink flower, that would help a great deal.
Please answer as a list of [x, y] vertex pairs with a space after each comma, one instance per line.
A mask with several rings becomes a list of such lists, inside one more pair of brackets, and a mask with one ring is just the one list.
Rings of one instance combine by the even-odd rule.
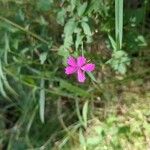
[[40, 119], [42, 123], [44, 123], [44, 112], [45, 112], [45, 89], [44, 88], [45, 88], [45, 81], [44, 79], [41, 79], [39, 107], [40, 107]]

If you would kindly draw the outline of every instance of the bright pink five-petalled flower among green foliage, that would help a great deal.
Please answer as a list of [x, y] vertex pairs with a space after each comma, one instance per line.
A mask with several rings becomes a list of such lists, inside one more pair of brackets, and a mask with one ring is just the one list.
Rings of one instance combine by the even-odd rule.
[[67, 75], [71, 75], [76, 73], [77, 79], [79, 82], [84, 82], [85, 72], [91, 72], [95, 69], [95, 64], [87, 63], [86, 58], [83, 56], [79, 56], [77, 59], [74, 57], [69, 57], [67, 60], [68, 66], [65, 68], [65, 73]]

